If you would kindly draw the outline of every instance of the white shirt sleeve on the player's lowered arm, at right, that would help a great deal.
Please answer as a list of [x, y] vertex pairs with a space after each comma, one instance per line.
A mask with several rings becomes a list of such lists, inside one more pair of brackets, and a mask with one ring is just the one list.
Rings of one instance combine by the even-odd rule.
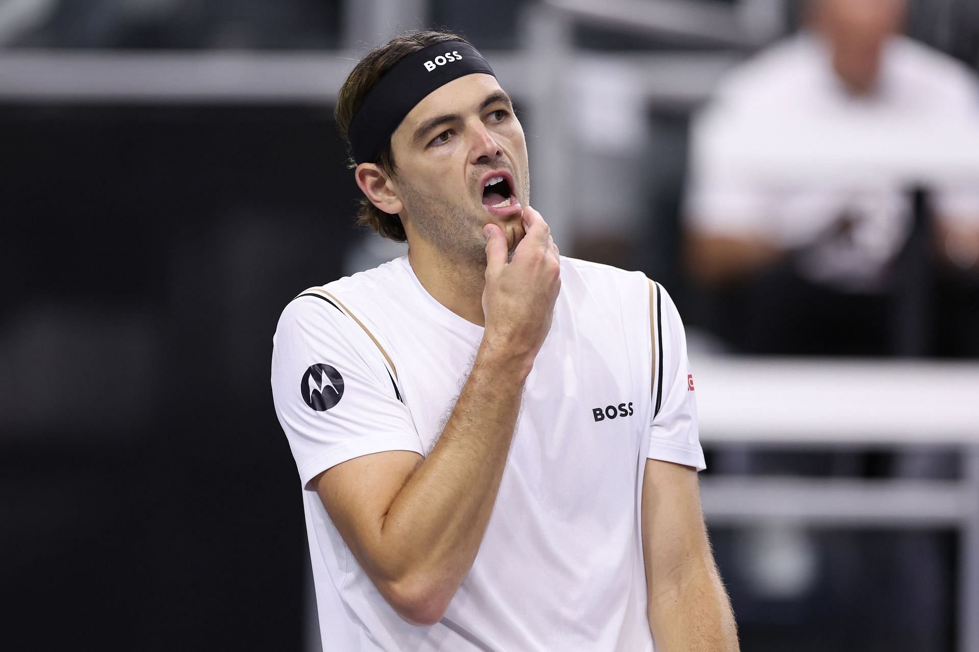
[[653, 334], [656, 342], [656, 383], [653, 387], [653, 421], [649, 429], [647, 457], [707, 468], [697, 427], [697, 399], [686, 355], [686, 333], [676, 304], [656, 284]]

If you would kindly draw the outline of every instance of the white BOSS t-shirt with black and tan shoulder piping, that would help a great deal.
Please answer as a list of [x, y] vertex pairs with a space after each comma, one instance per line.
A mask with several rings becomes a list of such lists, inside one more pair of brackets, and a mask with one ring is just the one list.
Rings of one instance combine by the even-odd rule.
[[646, 277], [563, 257], [561, 281], [486, 536], [432, 627], [397, 616], [308, 483], [359, 455], [430, 451], [483, 328], [433, 299], [407, 257], [306, 291], [283, 311], [272, 394], [303, 486], [326, 652], [653, 650], [645, 460], [704, 468], [683, 326], [657, 286], [653, 382]]

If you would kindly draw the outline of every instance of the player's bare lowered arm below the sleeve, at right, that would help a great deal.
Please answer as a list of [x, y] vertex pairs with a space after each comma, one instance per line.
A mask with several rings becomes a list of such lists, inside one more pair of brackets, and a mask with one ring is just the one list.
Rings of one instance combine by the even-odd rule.
[[642, 550], [658, 652], [734, 652], [737, 627], [707, 538], [696, 470], [646, 460]]

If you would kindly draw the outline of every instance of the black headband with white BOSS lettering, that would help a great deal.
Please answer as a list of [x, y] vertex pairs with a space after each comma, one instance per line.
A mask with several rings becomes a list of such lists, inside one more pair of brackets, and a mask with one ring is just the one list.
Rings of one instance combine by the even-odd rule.
[[493, 74], [486, 59], [465, 41], [436, 43], [397, 62], [350, 120], [347, 135], [353, 161], [377, 163], [397, 125], [415, 105], [449, 81], [474, 72]]

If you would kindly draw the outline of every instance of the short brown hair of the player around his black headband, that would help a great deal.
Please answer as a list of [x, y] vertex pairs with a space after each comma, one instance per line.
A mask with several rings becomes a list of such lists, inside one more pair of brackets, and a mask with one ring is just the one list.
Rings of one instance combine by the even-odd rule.
[[[388, 41], [386, 44], [371, 50], [357, 65], [350, 71], [347, 81], [340, 89], [340, 96], [337, 98], [337, 109], [334, 116], [337, 118], [337, 127], [340, 135], [344, 138], [347, 151], [350, 152], [350, 121], [356, 114], [360, 105], [363, 104], [367, 93], [377, 84], [378, 80], [388, 70], [404, 57], [418, 52], [422, 48], [427, 48], [443, 41], [463, 41], [458, 34], [449, 31], [427, 30], [408, 32]], [[385, 145], [384, 150], [377, 162], [389, 174], [394, 175], [396, 171], [395, 157], [391, 152], [391, 140]], [[356, 167], [353, 157], [348, 162], [349, 167]], [[392, 215], [384, 210], [378, 209], [366, 197], [360, 200], [360, 207], [357, 210], [357, 224], [369, 226], [385, 238], [391, 238], [396, 242], [404, 242], [407, 238], [404, 235], [404, 226], [401, 218]]]

